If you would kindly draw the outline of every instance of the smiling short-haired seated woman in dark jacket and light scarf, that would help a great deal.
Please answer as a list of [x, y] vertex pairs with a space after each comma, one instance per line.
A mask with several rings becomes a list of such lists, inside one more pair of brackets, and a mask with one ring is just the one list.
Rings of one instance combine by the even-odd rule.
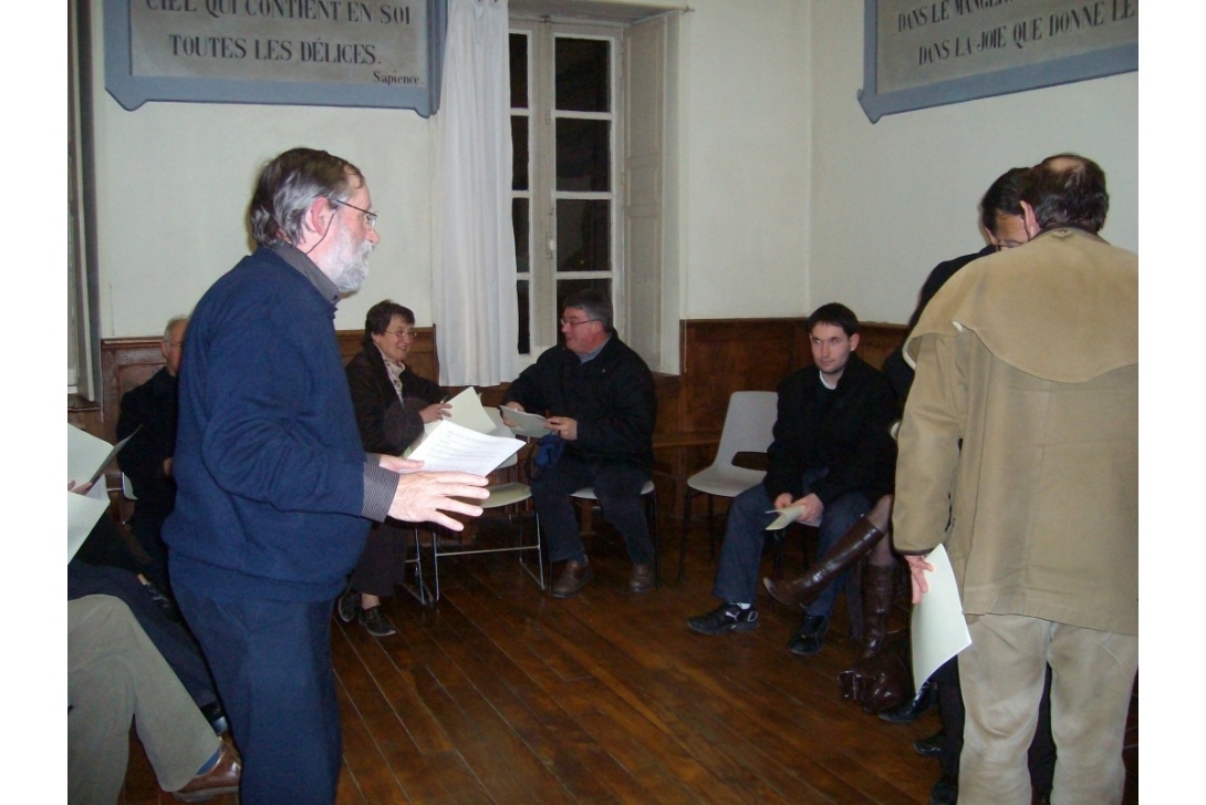
[[[367, 453], [402, 455], [426, 422], [445, 415], [447, 392], [405, 363], [415, 343], [410, 308], [390, 299], [369, 308], [363, 343], [364, 349], [345, 367], [361, 441]], [[349, 588], [339, 597], [344, 623], [358, 617], [375, 637], [396, 634], [381, 611], [381, 597], [393, 595], [394, 584], [405, 578], [408, 544], [408, 532], [393, 521], [373, 524]]]

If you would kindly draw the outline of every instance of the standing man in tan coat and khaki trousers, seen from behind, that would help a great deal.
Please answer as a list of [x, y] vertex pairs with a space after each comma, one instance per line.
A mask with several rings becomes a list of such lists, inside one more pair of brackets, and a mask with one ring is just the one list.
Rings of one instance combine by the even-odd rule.
[[1096, 234], [1093, 161], [1048, 157], [1021, 199], [1030, 243], [954, 276], [906, 344], [892, 536], [914, 601], [946, 546], [972, 636], [960, 803], [1030, 803], [1047, 664], [1052, 801], [1117, 803], [1138, 666], [1138, 258]]

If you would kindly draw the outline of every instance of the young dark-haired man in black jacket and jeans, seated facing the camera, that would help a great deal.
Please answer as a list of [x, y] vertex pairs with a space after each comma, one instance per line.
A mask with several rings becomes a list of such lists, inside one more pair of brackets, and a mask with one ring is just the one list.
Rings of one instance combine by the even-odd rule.
[[[888, 378], [867, 366], [859, 349], [859, 320], [845, 305], [821, 305], [807, 321], [813, 366], [779, 384], [779, 415], [761, 484], [733, 498], [712, 588], [721, 605], [687, 619], [704, 635], [757, 626], [757, 571], [773, 509], [801, 507], [800, 523], [819, 525], [818, 555], [891, 492], [896, 445], [890, 428], [896, 398]], [[775, 535], [773, 538], [779, 538]], [[890, 571], [890, 565], [888, 566]], [[821, 651], [830, 614], [849, 570], [835, 573], [804, 607], [788, 648], [801, 657]], [[890, 600], [890, 583], [873, 584]], [[888, 607], [883, 607], [886, 616]]]

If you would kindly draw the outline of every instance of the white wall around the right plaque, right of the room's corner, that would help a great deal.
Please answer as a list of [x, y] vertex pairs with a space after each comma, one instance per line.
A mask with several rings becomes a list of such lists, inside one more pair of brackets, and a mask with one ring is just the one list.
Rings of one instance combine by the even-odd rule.
[[1111, 194], [1102, 237], [1138, 251], [1136, 72], [872, 124], [856, 100], [862, 2], [812, 7], [810, 294], [802, 311], [841, 301], [866, 321], [906, 321], [935, 264], [984, 245], [976, 204], [993, 180], [1061, 151], [1101, 164]]

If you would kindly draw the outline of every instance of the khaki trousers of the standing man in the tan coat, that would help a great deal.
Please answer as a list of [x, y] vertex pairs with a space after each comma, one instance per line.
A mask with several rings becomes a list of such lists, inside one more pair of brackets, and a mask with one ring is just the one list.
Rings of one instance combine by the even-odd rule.
[[967, 707], [959, 803], [1029, 805], [1026, 748], [1052, 666], [1052, 805], [1119, 803], [1138, 637], [1024, 616], [980, 616], [959, 655]]

